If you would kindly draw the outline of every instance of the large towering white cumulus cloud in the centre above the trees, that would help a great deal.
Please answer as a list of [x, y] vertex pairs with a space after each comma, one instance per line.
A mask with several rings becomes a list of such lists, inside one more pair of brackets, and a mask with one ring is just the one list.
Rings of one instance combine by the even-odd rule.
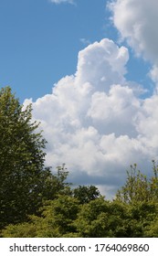
[[75, 74], [32, 102], [47, 139], [47, 165], [66, 163], [71, 181], [95, 184], [109, 197], [137, 163], [158, 155], [158, 96], [141, 100], [125, 80], [128, 49], [110, 39], [79, 52]]

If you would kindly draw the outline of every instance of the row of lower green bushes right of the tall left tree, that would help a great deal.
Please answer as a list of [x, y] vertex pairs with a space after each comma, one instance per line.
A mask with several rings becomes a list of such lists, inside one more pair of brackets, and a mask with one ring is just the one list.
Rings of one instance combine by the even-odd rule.
[[[136, 170], [136, 166], [134, 168], [134, 173], [133, 169], [127, 173], [125, 185], [119, 189], [114, 199], [107, 200], [101, 195], [98, 196], [98, 193], [97, 197], [90, 197], [89, 186], [75, 188], [78, 192], [75, 194], [74, 188], [68, 189], [67, 185], [68, 190], [62, 190], [58, 197], [44, 202], [40, 208], [40, 216], [31, 215], [26, 222], [6, 226], [2, 230], [2, 237], [158, 237], [158, 202], [155, 198], [146, 200], [146, 197], [142, 197], [145, 189], [149, 192], [149, 187], [143, 187], [143, 178], [142, 189], [141, 184], [135, 187], [141, 189], [140, 200], [134, 198], [139, 191], [134, 191], [135, 194], [131, 195], [131, 177], [136, 181], [143, 176]], [[146, 182], [153, 183], [153, 177], [145, 179]], [[98, 191], [97, 187], [93, 187], [92, 191]], [[132, 197], [127, 200], [124, 195]]]

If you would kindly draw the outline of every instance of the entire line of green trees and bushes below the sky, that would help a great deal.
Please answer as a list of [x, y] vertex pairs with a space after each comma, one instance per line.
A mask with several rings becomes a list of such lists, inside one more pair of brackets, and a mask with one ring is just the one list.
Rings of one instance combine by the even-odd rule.
[[97, 187], [72, 188], [66, 165], [46, 167], [47, 142], [10, 87], [0, 90], [0, 237], [158, 237], [158, 165], [131, 165], [112, 200]]

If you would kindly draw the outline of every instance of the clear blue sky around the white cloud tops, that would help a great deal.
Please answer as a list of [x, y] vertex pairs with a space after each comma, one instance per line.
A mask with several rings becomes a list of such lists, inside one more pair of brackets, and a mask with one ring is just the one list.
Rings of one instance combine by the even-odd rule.
[[[49, 93], [59, 79], [73, 74], [86, 41], [108, 37], [117, 42], [118, 32], [112, 27], [107, 1], [74, 3], [0, 1], [0, 86], [10, 85], [20, 101], [36, 100]], [[127, 77], [148, 87], [147, 63], [131, 55]]]

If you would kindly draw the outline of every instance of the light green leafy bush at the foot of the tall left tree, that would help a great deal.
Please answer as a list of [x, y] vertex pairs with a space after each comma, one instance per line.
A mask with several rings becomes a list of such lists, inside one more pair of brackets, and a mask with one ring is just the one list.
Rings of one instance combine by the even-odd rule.
[[29, 221], [22, 224], [9, 225], [2, 231], [4, 237], [37, 237], [59, 238], [75, 237], [76, 227], [73, 224], [79, 212], [79, 201], [69, 196], [59, 196], [45, 202], [40, 217], [30, 216]]

